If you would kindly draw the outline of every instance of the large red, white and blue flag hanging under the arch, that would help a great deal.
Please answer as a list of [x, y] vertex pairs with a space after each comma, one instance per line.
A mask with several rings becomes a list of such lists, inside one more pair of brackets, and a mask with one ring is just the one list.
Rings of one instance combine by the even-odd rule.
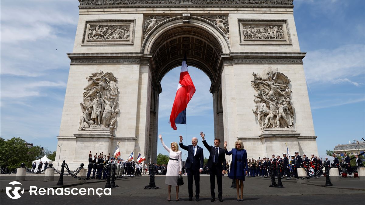
[[195, 86], [188, 73], [186, 54], [181, 65], [180, 80], [177, 85], [174, 104], [172, 105], [169, 123], [176, 130], [176, 124], [186, 124], [186, 108], [195, 93]]

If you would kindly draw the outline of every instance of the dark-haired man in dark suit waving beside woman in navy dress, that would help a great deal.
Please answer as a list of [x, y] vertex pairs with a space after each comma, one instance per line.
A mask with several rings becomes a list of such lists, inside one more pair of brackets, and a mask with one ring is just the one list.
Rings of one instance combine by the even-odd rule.
[[210, 193], [212, 195], [211, 202], [215, 201], [215, 176], [217, 176], [217, 184], [218, 184], [218, 200], [222, 200], [222, 176], [226, 171], [226, 154], [224, 154], [224, 149], [219, 147], [220, 139], [214, 139], [214, 147], [209, 146], [207, 141], [205, 141], [205, 135], [203, 132], [200, 132], [201, 141], [203, 142], [205, 148], [209, 151], [209, 158], [207, 167], [209, 168], [210, 175]]

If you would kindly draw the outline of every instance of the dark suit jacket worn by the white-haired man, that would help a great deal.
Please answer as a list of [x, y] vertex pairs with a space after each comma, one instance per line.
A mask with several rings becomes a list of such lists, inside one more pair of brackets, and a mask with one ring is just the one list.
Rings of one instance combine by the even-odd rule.
[[203, 148], [196, 146], [196, 154], [194, 156], [192, 145], [185, 146], [182, 142], [179, 143], [179, 145], [182, 149], [188, 151], [188, 158], [186, 159], [185, 162], [186, 168], [192, 170], [199, 170], [200, 168], [203, 168], [203, 163], [204, 163]]

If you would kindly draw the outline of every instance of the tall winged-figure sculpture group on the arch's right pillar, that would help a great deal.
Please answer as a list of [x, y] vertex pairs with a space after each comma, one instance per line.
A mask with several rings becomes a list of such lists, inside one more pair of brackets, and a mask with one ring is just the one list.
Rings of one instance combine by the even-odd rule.
[[294, 121], [294, 107], [291, 104], [290, 80], [278, 69], [264, 69], [261, 74], [253, 73], [251, 86], [256, 90], [252, 110], [261, 128], [291, 128]]

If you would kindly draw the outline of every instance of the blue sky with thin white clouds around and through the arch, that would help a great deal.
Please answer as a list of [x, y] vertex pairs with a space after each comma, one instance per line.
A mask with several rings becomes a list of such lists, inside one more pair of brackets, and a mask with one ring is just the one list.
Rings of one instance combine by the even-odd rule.
[[[295, 0], [294, 17], [320, 156], [365, 135], [363, 0]], [[0, 1], [0, 136], [55, 150], [78, 21], [77, 0]], [[159, 133], [214, 137], [210, 81], [189, 67], [197, 92], [187, 128], [168, 121], [180, 68], [162, 79]], [[204, 122], [204, 123], [202, 123]], [[185, 137], [186, 138], [186, 137]], [[159, 143], [159, 142], [158, 142]], [[161, 144], [158, 152], [166, 154]], [[205, 151], [205, 155], [207, 156]]]

